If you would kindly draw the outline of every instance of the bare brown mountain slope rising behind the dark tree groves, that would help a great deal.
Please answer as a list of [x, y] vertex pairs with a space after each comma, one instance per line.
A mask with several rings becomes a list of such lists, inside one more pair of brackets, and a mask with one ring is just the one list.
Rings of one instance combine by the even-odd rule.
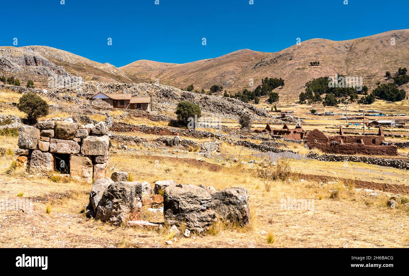
[[[391, 38], [395, 38], [394, 45]], [[320, 64], [310, 66], [311, 61]], [[137, 61], [120, 69], [130, 77], [150, 76], [179, 88], [193, 84], [195, 89], [209, 90], [212, 84], [218, 84], [234, 92], [253, 90], [264, 77], [281, 77], [285, 81], [282, 89], [277, 88], [281, 98], [294, 99], [312, 78], [336, 73], [362, 76], [364, 85], [374, 88], [378, 81], [385, 81], [386, 71], [395, 73], [401, 66], [409, 66], [408, 29], [344, 41], [317, 38], [276, 53], [246, 49], [185, 64]], [[254, 79], [252, 87], [250, 79]]]

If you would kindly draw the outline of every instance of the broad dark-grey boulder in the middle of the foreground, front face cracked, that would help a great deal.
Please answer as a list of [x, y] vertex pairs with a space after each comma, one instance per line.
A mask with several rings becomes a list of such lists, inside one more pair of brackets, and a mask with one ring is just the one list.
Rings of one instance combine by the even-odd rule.
[[194, 185], [169, 185], [165, 188], [164, 217], [169, 225], [186, 225], [190, 231], [203, 232], [216, 219], [211, 195]]

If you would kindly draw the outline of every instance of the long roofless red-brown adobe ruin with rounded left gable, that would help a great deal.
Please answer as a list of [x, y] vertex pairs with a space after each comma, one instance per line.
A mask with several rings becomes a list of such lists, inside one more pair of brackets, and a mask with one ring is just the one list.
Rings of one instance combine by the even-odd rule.
[[305, 140], [307, 146], [317, 148], [326, 153], [346, 155], [398, 155], [398, 147], [384, 144], [385, 136], [382, 127], [378, 135], [344, 135], [342, 126], [339, 135], [326, 136], [320, 130], [312, 130], [307, 133]]

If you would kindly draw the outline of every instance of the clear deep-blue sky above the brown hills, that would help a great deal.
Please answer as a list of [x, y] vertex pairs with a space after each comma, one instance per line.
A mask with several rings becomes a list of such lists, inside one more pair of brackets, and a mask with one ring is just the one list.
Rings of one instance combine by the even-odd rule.
[[[408, 29], [407, 0], [3, 0], [1, 46], [46, 45], [97, 62], [184, 63], [312, 38]], [[107, 39], [112, 38], [112, 45]], [[202, 46], [202, 38], [207, 45]]]

